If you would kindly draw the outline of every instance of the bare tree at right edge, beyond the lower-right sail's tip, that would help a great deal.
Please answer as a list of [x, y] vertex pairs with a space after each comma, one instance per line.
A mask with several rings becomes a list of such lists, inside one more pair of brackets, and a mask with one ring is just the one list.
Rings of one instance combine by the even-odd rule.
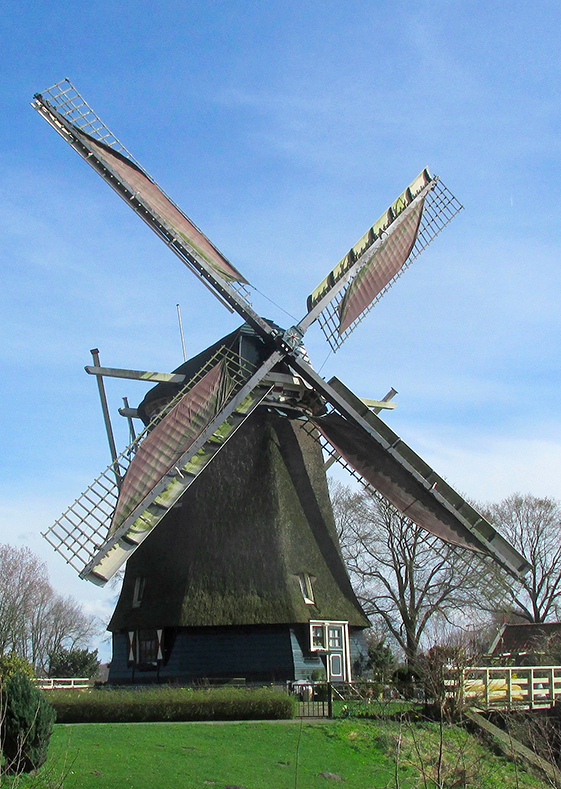
[[514, 493], [481, 507], [531, 565], [520, 584], [505, 587], [508, 609], [525, 622], [558, 616], [561, 604], [561, 502]]

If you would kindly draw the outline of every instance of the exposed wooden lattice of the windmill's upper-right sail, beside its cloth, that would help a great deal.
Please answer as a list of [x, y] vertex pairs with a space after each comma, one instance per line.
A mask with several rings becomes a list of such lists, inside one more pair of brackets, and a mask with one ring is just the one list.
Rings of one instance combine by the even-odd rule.
[[[388, 282], [388, 284], [378, 293], [368, 307], [356, 318], [355, 321], [341, 334], [339, 333], [340, 323], [340, 310], [341, 304], [345, 298], [349, 286], [352, 284], [351, 279], [349, 283], [340, 290], [329, 304], [318, 315], [317, 321], [323, 331], [327, 342], [331, 349], [335, 352], [345, 340], [352, 334], [355, 328], [364, 320], [370, 310], [380, 301], [382, 296], [397, 282], [403, 272], [409, 268], [411, 263], [419, 257], [421, 252], [425, 250], [429, 244], [436, 238], [436, 236], [451, 222], [459, 211], [463, 208], [462, 204], [457, 200], [454, 195], [444, 186], [442, 181], [436, 180], [433, 188], [428, 192], [425, 198], [423, 214], [417, 238], [411, 253], [403, 266], [399, 269], [397, 274]], [[356, 272], [361, 269], [359, 268]], [[355, 276], [356, 276], [355, 274]]]

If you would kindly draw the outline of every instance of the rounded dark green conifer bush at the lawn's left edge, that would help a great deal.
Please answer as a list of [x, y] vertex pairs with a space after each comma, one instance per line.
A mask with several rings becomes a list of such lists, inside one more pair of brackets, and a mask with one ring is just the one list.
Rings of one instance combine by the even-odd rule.
[[0, 745], [5, 769], [12, 773], [36, 770], [47, 758], [55, 711], [22, 671], [3, 683], [2, 694]]

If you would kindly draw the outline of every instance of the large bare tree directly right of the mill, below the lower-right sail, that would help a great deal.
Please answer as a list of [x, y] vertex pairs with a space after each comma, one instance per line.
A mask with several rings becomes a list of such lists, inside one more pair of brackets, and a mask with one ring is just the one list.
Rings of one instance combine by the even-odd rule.
[[366, 613], [381, 619], [415, 668], [435, 617], [454, 619], [473, 603], [485, 562], [428, 534], [367, 492], [332, 486], [341, 548]]

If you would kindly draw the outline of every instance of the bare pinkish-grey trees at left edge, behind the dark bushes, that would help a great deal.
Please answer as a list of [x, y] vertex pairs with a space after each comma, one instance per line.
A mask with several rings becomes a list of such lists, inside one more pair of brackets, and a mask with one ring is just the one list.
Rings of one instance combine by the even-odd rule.
[[49, 652], [89, 646], [100, 630], [72, 597], [58, 595], [44, 562], [29, 548], [0, 545], [0, 655], [45, 670]]

